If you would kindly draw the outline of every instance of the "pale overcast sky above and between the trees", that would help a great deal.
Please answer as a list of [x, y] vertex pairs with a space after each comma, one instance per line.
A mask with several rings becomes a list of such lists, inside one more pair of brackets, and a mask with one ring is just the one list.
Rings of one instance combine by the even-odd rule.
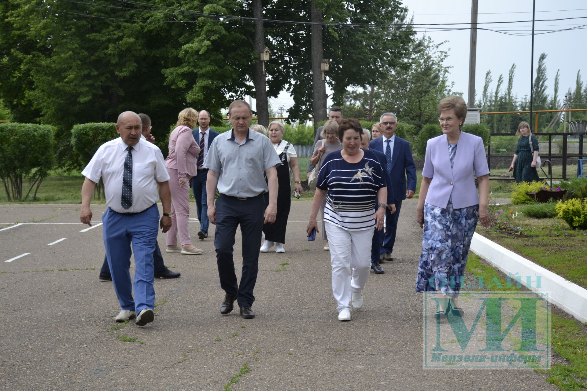
[[[403, 5], [414, 16], [414, 23], [470, 23], [471, 0], [404, 0]], [[534, 75], [538, 65], [538, 57], [546, 53], [546, 69], [548, 80], [546, 92], [551, 95], [554, 89], [556, 70], [560, 69], [561, 103], [569, 87], [575, 88], [576, 74], [581, 69], [582, 75], [587, 75], [587, 29], [575, 29], [562, 32], [542, 33], [545, 30], [568, 29], [584, 26], [587, 28], [587, 1], [585, 0], [536, 0], [535, 19], [567, 19], [564, 21], [543, 21], [535, 23], [534, 37]], [[481, 24], [482, 22], [531, 21], [531, 0], [479, 0], [478, 25], [479, 28], [497, 30], [517, 30], [518, 33], [531, 33], [532, 22]], [[390, 21], [392, 22], [392, 21]], [[456, 27], [468, 27], [458, 25]], [[437, 31], [424, 26], [417, 26], [418, 35], [429, 35], [434, 42], [447, 41], [444, 50], [449, 53], [445, 61], [451, 66], [449, 81], [454, 82], [454, 91], [463, 93], [468, 100], [468, 67], [470, 30]], [[524, 31], [519, 31], [524, 30]], [[542, 31], [541, 31], [542, 30]], [[514, 93], [518, 98], [529, 96], [530, 63], [531, 63], [531, 35], [512, 36], [503, 33], [478, 30], [477, 32], [477, 70], [475, 90], [477, 100], [483, 91], [485, 72], [491, 70], [492, 85], [495, 89], [497, 78], [504, 75], [504, 87], [507, 86], [508, 71], [512, 63], [516, 64], [514, 77]], [[583, 76], [583, 80], [586, 77]], [[502, 87], [503, 88], [503, 87]], [[272, 98], [271, 106], [276, 109], [282, 106], [287, 110], [294, 103], [289, 94], [282, 92], [277, 98]], [[331, 101], [329, 100], [329, 104]], [[254, 104], [254, 102], [253, 102]]]

